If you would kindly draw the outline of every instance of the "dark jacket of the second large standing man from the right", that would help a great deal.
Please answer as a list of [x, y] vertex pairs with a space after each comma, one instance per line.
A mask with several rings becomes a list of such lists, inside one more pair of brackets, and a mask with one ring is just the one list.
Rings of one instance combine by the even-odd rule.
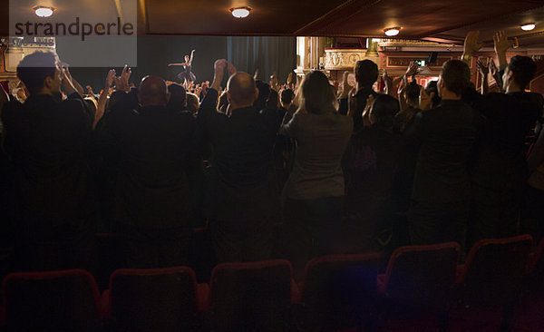
[[453, 202], [471, 199], [468, 167], [479, 128], [479, 115], [462, 101], [442, 100], [418, 112], [404, 131], [421, 142], [413, 182], [413, 200]]

